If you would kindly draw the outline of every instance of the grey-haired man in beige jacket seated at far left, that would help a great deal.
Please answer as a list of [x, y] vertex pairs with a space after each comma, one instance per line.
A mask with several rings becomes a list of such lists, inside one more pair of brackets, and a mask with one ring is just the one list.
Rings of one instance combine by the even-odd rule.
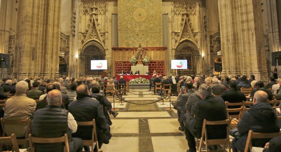
[[[34, 99], [27, 97], [26, 92], [28, 89], [26, 81], [17, 83], [15, 96], [9, 98], [5, 103], [5, 120], [32, 119], [36, 102]], [[15, 133], [17, 137], [24, 137], [26, 135], [26, 126], [6, 125], [5, 132], [7, 135]]]

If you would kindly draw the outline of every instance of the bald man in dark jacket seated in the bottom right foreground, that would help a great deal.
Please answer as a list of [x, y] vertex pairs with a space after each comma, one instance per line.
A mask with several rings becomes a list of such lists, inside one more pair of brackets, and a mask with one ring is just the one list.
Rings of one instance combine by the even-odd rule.
[[[244, 151], [247, 134], [249, 130], [253, 132], [279, 132], [277, 116], [274, 109], [267, 103], [267, 94], [264, 91], [256, 91], [253, 97], [253, 106], [243, 113], [238, 123], [238, 132], [241, 134], [239, 139], [233, 138], [233, 152]], [[253, 146], [264, 146], [269, 139], [252, 140]]]

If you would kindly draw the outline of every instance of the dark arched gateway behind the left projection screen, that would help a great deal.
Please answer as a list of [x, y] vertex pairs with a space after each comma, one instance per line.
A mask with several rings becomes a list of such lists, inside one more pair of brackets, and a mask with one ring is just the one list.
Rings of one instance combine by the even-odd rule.
[[82, 74], [83, 75], [98, 75], [99, 72], [104, 72], [103, 70], [90, 70], [91, 60], [104, 60], [105, 50], [100, 43], [97, 41], [90, 41], [86, 43], [80, 53], [81, 64], [82, 64]]

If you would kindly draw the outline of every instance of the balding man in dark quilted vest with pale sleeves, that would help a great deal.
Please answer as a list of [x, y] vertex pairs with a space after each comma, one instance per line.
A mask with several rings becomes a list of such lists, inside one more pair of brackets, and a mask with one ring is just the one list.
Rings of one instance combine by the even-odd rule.
[[[82, 151], [82, 140], [72, 138], [77, 123], [70, 112], [61, 108], [62, 93], [52, 90], [47, 95], [48, 106], [37, 110], [32, 121], [32, 134], [36, 137], [60, 137], [67, 133], [69, 150]], [[62, 151], [63, 143], [36, 144], [36, 151]]]

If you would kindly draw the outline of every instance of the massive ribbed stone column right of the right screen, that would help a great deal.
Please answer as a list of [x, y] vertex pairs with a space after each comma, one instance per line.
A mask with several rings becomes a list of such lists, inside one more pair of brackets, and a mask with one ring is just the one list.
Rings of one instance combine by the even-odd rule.
[[223, 74], [265, 79], [260, 0], [219, 0]]

